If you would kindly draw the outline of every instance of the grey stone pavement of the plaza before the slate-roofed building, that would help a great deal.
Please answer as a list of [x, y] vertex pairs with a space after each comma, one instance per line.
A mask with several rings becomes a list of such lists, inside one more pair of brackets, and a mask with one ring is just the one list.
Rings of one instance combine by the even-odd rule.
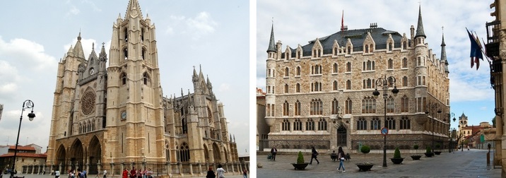
[[[389, 158], [393, 153], [387, 153], [387, 167], [382, 167], [383, 154], [353, 154], [351, 160], [345, 161], [346, 172], [336, 169], [339, 162], [333, 162], [330, 155], [320, 154], [319, 164], [313, 160], [305, 170], [294, 170], [290, 164], [297, 160], [295, 153], [278, 153], [276, 161], [266, 159], [266, 153], [257, 153], [257, 162], [263, 165], [257, 168], [257, 177], [501, 177], [500, 169], [486, 165], [487, 150], [458, 150], [454, 153], [442, 152], [433, 158], [412, 160], [409, 153], [401, 153], [404, 162], [394, 165]], [[493, 152], [490, 153], [492, 160]], [[310, 153], [305, 153], [305, 162], [310, 162]], [[357, 162], [372, 162], [375, 164], [370, 171], [359, 172]], [[491, 163], [492, 161], [490, 161]]]

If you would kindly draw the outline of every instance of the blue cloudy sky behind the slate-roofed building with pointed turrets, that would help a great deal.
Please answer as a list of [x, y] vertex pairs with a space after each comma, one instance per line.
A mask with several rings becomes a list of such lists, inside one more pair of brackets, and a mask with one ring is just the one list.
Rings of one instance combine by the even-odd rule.
[[[490, 69], [486, 61], [476, 71], [470, 68], [469, 37], [466, 27], [486, 39], [485, 23], [493, 21], [489, 8], [493, 1], [421, 1], [423, 27], [430, 49], [440, 58], [442, 28], [445, 32], [449, 62], [450, 107], [458, 119], [462, 113], [469, 117], [469, 126], [489, 121], [494, 114], [494, 90], [490, 88]], [[341, 14], [348, 30], [379, 28], [406, 33], [416, 28], [418, 1], [257, 1], [257, 86], [265, 89], [266, 50], [272, 21], [276, 42], [297, 47], [317, 37], [338, 32]], [[458, 127], [452, 122], [452, 127]]]

